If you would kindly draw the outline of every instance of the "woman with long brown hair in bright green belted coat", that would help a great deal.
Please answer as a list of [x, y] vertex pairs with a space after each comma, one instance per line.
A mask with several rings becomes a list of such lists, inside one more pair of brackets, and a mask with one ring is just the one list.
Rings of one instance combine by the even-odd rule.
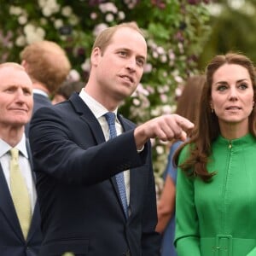
[[178, 256], [256, 256], [255, 75], [235, 53], [207, 66], [198, 123], [176, 154]]

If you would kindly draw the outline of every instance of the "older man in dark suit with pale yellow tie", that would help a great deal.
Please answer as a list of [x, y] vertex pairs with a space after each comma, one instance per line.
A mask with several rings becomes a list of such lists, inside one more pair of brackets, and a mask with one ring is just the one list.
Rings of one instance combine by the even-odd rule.
[[[0, 64], [1, 256], [36, 256], [42, 241], [32, 155], [24, 133], [32, 106], [32, 81], [25, 69], [16, 63]], [[18, 169], [12, 168], [14, 148]]]

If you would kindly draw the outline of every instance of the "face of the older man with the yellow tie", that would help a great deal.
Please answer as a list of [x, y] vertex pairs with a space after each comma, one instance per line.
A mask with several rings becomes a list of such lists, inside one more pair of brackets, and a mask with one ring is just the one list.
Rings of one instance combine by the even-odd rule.
[[32, 116], [32, 81], [22, 69], [0, 68], [0, 127], [18, 127]]

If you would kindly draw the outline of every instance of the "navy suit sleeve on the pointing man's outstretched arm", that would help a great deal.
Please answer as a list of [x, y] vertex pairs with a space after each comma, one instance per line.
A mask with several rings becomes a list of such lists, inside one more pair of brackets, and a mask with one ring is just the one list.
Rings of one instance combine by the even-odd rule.
[[134, 130], [97, 144], [86, 122], [72, 123], [68, 114], [75, 113], [55, 108], [34, 113], [29, 138], [35, 172], [63, 183], [92, 185], [145, 163], [147, 147], [137, 154]]

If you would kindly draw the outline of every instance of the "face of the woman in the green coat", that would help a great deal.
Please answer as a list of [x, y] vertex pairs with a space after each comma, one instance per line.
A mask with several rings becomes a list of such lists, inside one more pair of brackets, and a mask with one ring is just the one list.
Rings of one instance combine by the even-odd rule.
[[224, 64], [212, 77], [211, 108], [224, 125], [239, 125], [248, 130], [248, 116], [253, 110], [253, 84], [245, 67]]

